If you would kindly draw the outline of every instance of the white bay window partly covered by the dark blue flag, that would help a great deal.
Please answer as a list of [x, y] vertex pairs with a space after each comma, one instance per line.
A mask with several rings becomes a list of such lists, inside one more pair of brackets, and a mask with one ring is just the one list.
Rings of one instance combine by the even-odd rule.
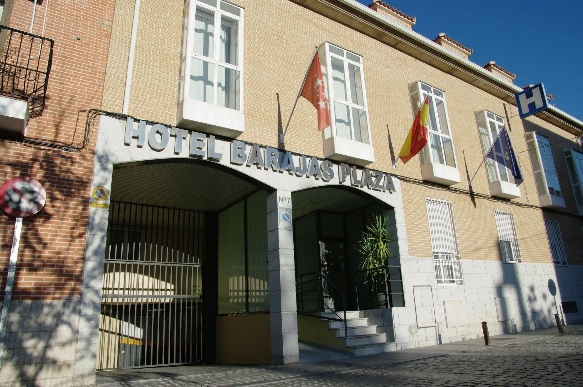
[[[486, 157], [494, 140], [504, 128], [504, 119], [493, 112], [483, 110], [476, 113], [476, 122], [480, 144], [482, 145], [482, 154], [483, 157]], [[502, 152], [502, 149], [498, 148], [500, 147], [494, 147], [494, 153]], [[485, 159], [484, 164], [486, 164], [486, 173], [492, 196], [504, 199], [515, 199], [521, 196], [520, 188], [516, 186], [510, 169], [490, 158]]]

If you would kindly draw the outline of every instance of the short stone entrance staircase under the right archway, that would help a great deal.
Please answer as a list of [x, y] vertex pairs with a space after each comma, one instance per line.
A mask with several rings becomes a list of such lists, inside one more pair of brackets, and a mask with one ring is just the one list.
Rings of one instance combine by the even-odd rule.
[[[344, 312], [336, 312], [336, 314], [324, 312], [321, 315], [322, 317], [335, 318], [337, 314], [343, 316]], [[327, 323], [328, 330], [336, 333], [336, 337], [345, 342], [346, 350], [340, 349], [343, 352], [353, 356], [363, 356], [396, 351], [396, 343], [387, 342], [387, 333], [380, 332], [376, 325], [370, 325], [368, 318], [361, 317], [359, 311], [346, 311], [346, 330], [342, 321], [330, 321], [325, 318], [322, 318], [321, 321]], [[312, 344], [318, 345], [318, 343]]]

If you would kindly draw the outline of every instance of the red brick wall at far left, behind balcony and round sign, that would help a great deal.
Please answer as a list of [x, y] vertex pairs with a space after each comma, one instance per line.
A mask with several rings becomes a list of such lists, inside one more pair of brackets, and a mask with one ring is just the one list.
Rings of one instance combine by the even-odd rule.
[[[15, 0], [9, 26], [29, 31], [33, 5]], [[74, 133], [76, 117], [79, 110], [101, 107], [114, 5], [115, 0], [51, 0], [37, 5], [33, 33], [55, 43], [45, 109], [30, 119], [27, 137], [82, 140], [85, 122]], [[0, 183], [26, 175], [47, 191], [44, 210], [23, 222], [13, 300], [80, 294], [95, 140], [93, 133], [89, 147], [80, 153], [0, 142]], [[14, 220], [2, 213], [2, 290], [13, 227]]]

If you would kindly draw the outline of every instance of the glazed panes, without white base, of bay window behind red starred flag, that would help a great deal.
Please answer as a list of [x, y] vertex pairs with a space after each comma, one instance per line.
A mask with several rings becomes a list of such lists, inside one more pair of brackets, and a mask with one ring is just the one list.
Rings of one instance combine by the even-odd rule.
[[318, 52], [325, 73], [331, 75], [326, 82], [332, 125], [324, 130], [324, 140], [338, 136], [370, 144], [362, 57], [328, 42]]

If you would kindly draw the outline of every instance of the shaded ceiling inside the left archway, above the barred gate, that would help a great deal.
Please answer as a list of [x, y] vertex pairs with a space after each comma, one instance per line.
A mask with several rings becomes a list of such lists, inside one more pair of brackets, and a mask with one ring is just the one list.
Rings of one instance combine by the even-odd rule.
[[216, 212], [255, 190], [216, 168], [164, 163], [114, 169], [111, 200]]

